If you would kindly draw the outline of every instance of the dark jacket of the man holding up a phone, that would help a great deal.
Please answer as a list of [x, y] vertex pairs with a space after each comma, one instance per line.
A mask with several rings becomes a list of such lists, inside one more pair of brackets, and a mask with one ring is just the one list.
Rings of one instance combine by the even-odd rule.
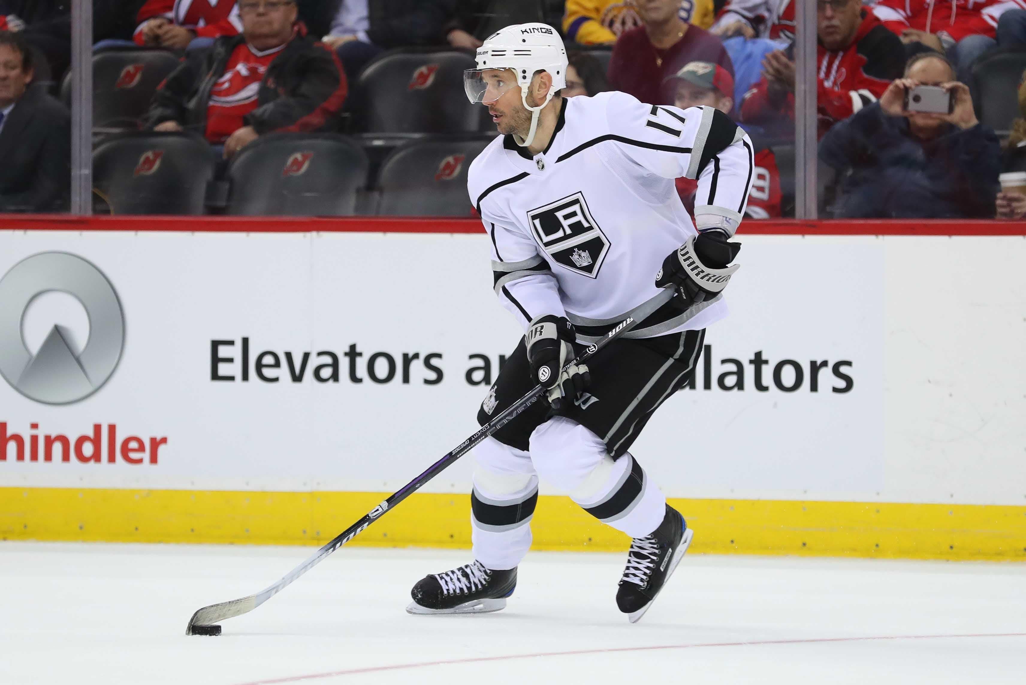
[[949, 125], [931, 139], [912, 135], [908, 120], [878, 104], [835, 124], [820, 159], [844, 174], [838, 218], [988, 218], [999, 190], [1001, 149], [984, 124]]

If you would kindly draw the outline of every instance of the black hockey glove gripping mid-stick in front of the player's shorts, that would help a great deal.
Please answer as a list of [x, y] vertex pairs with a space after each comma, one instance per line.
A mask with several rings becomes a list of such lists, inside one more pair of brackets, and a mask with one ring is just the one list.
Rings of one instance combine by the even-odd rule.
[[574, 359], [574, 324], [552, 314], [536, 317], [524, 335], [531, 378], [545, 388], [549, 404], [556, 411], [565, 409], [591, 380], [584, 364], [563, 366]]

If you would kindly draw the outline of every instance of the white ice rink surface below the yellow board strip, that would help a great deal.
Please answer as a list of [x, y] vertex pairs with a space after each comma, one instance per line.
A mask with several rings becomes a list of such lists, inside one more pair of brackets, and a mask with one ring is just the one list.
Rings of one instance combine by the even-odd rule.
[[186, 637], [309, 553], [0, 542], [0, 683], [1026, 682], [1026, 564], [688, 555], [632, 626], [623, 555], [531, 553], [504, 611], [411, 616], [413, 582], [469, 553], [344, 548]]

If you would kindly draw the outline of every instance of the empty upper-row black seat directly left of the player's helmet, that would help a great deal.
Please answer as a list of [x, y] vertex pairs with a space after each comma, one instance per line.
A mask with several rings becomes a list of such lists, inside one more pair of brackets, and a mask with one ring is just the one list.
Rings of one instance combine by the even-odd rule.
[[472, 133], [482, 109], [467, 102], [464, 52], [394, 51], [367, 65], [357, 80], [357, 130], [371, 133]]

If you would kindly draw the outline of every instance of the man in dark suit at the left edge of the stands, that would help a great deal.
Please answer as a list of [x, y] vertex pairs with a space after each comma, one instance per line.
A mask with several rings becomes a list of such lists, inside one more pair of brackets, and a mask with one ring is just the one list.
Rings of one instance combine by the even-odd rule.
[[21, 34], [0, 31], [0, 211], [53, 211], [71, 187], [71, 116], [39, 86]]

